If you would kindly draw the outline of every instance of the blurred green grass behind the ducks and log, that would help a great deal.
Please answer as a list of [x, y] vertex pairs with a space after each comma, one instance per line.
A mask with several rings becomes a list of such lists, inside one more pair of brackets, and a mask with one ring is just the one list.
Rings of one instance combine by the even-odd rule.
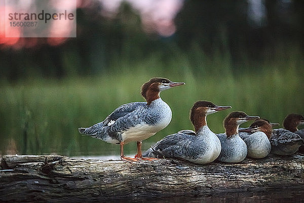
[[[302, 60], [288, 58], [276, 64], [264, 61], [236, 71], [229, 57], [208, 61], [203, 56], [177, 56], [166, 63], [161, 63], [158, 56], [137, 63], [122, 60], [112, 64], [120, 67], [117, 71], [96, 77], [60, 81], [38, 78], [13, 85], [2, 81], [0, 155], [119, 154], [119, 146], [81, 136], [78, 127], [102, 121], [122, 104], [143, 101], [140, 86], [155, 76], [186, 85], [161, 93], [173, 118], [168, 127], [143, 142], [143, 150], [167, 134], [193, 129], [188, 114], [196, 100], [233, 107], [208, 116], [208, 125], [214, 132], [224, 131], [222, 121], [231, 111], [244, 111], [281, 124], [289, 113], [304, 114]], [[125, 153], [136, 154], [136, 144], [126, 145]]]

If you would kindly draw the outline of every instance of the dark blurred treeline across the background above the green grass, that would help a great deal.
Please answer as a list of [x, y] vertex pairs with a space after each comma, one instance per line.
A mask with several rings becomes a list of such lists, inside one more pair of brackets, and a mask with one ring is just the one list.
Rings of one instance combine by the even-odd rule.
[[[264, 8], [265, 19], [257, 24], [249, 15], [254, 3]], [[0, 47], [0, 77], [17, 80], [108, 73], [122, 64], [132, 67], [153, 54], [163, 63], [176, 57], [174, 53], [192, 58], [189, 50], [193, 47], [211, 60], [228, 54], [234, 64], [273, 58], [273, 54], [284, 52], [282, 47], [300, 47], [303, 54], [303, 8], [301, 0], [185, 0], [175, 19], [175, 35], [164, 40], [156, 33], [144, 32], [140, 15], [125, 1], [111, 17], [102, 15], [100, 2], [92, 1], [77, 10], [77, 38], [60, 45], [36, 39], [35, 46], [19, 50]], [[22, 41], [30, 43], [31, 39]]]

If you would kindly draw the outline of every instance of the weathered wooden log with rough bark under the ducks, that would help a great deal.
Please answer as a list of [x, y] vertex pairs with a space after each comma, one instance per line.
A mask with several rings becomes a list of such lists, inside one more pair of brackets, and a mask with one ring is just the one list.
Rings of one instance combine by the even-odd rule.
[[0, 201], [81, 201], [304, 186], [304, 156], [299, 154], [206, 165], [172, 159], [127, 163], [59, 155], [6, 155], [1, 169]]

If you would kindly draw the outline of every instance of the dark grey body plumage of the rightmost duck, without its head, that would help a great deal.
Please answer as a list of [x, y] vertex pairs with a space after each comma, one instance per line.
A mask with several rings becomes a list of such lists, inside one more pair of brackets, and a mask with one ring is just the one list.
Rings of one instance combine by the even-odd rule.
[[298, 134], [283, 128], [273, 130], [270, 142], [271, 153], [281, 156], [294, 154], [304, 145], [304, 140]]

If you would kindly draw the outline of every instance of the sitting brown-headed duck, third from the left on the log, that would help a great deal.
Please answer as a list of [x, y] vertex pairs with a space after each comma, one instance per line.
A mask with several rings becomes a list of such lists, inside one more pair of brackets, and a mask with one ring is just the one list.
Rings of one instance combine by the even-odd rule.
[[224, 119], [225, 133], [217, 134], [222, 148], [217, 158], [219, 161], [237, 163], [246, 158], [247, 146], [239, 136], [239, 125], [256, 118], [259, 117], [235, 111]]

